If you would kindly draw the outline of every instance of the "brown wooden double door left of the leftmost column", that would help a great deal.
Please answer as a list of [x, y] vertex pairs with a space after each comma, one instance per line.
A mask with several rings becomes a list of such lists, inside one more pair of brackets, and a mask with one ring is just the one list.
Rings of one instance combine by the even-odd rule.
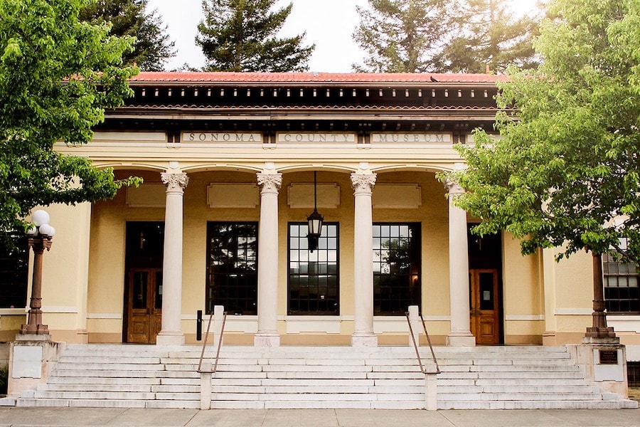
[[129, 268], [127, 342], [152, 344], [161, 329], [162, 270]]

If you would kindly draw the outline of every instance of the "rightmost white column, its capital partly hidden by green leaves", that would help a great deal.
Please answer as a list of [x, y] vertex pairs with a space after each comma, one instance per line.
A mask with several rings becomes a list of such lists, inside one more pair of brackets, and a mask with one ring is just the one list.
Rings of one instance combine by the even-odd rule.
[[451, 331], [447, 345], [474, 346], [469, 316], [469, 248], [466, 242], [466, 212], [454, 206], [453, 199], [464, 189], [447, 181], [449, 189], [449, 294]]

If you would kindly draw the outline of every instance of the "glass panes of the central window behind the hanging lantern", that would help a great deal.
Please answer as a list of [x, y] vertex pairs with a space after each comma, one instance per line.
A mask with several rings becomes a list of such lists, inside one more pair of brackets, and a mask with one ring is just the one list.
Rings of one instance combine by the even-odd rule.
[[306, 224], [289, 223], [289, 315], [338, 315], [338, 224], [324, 223], [313, 252], [306, 235]]

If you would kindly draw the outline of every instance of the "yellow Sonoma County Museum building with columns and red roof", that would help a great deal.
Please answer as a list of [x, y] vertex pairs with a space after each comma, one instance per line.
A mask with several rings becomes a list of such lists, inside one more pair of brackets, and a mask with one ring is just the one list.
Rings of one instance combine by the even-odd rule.
[[[439, 179], [464, 168], [454, 144], [493, 132], [502, 78], [140, 73], [92, 142], [55, 147], [144, 183], [46, 208], [43, 323], [69, 343], [194, 343], [198, 310], [223, 305], [225, 344], [375, 346], [405, 344], [417, 305], [434, 344], [581, 342], [590, 255], [556, 263], [508, 233], [472, 235], [477, 218], [448, 198], [463, 189]], [[2, 255], [4, 342], [26, 322], [21, 248]], [[633, 359], [638, 272], [603, 267]]]

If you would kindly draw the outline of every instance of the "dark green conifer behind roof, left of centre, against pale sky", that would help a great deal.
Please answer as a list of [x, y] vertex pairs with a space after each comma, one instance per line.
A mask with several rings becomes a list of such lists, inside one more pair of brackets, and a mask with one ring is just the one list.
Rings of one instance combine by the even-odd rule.
[[306, 33], [276, 34], [293, 4], [271, 11], [276, 0], [203, 0], [205, 19], [198, 24], [208, 71], [286, 72], [308, 70], [315, 46], [302, 46]]

